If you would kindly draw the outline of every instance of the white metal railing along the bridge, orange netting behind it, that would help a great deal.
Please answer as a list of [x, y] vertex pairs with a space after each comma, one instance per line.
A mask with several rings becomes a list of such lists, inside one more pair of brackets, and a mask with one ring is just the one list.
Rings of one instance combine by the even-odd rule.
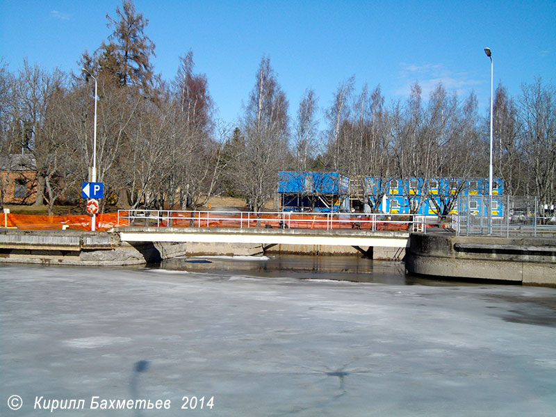
[[268, 229], [359, 229], [423, 231], [423, 215], [245, 211], [119, 210], [117, 225], [143, 227], [262, 227]]

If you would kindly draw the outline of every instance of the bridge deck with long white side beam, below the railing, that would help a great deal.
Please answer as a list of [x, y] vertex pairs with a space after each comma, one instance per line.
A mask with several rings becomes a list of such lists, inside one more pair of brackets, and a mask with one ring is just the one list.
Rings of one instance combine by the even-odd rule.
[[195, 227], [120, 227], [126, 242], [260, 243], [263, 245], [333, 245], [407, 247], [408, 231], [312, 229], [198, 229]]

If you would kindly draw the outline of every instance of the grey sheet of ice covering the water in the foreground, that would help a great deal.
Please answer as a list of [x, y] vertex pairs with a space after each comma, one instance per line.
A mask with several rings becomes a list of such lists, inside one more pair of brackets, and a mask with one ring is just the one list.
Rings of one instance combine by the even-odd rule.
[[556, 414], [553, 288], [170, 265], [0, 266], [0, 415], [49, 414], [35, 396], [85, 399], [67, 416]]

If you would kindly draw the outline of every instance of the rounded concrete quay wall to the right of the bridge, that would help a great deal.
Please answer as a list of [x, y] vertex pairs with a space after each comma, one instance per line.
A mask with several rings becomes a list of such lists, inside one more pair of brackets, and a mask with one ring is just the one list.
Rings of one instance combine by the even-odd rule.
[[412, 234], [410, 239], [410, 273], [556, 286], [554, 239], [437, 234]]

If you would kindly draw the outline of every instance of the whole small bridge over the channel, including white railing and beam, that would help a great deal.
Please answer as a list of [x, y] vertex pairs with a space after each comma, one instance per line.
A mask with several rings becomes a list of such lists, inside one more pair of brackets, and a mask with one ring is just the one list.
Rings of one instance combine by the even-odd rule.
[[424, 221], [379, 213], [135, 210], [118, 212], [123, 227], [116, 230], [124, 242], [188, 243], [199, 254], [238, 254], [240, 245], [258, 245], [252, 247], [258, 253], [279, 245], [280, 253], [303, 254], [349, 254], [353, 247], [372, 259], [380, 247], [382, 258], [393, 259], [403, 256], [409, 231], [423, 230]]

